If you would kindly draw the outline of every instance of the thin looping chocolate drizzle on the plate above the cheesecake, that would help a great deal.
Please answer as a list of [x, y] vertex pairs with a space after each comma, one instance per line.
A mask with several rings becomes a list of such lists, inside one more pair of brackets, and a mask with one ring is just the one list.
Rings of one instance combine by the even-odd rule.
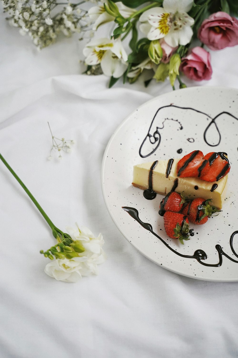
[[[218, 126], [217, 126], [217, 124], [216, 124], [216, 119], [217, 119], [219, 116], [223, 115], [223, 114], [227, 114], [227, 115], [231, 116], [232, 118], [238, 120], [237, 117], [233, 116], [231, 113], [226, 112], [226, 111], [223, 111], [223, 112], [219, 113], [218, 115], [216, 115], [214, 118], [212, 118], [212, 117], [209, 116], [207, 113], [202, 112], [202, 111], [199, 111], [199, 110], [196, 110], [195, 108], [191, 108], [191, 107], [180, 107], [180, 106], [175, 106], [175, 105], [172, 105], [172, 104], [171, 104], [171, 105], [168, 105], [168, 106], [160, 107], [160, 108], [158, 108], [158, 110], [156, 111], [156, 113], [155, 113], [155, 115], [154, 115], [154, 117], [153, 117], [153, 119], [152, 119], [152, 121], [151, 121], [151, 125], [150, 125], [150, 128], [149, 128], [149, 130], [148, 130], [148, 133], [147, 133], [145, 139], [142, 141], [142, 144], [141, 144], [141, 146], [140, 146], [139, 154], [140, 154], [140, 156], [141, 156], [142, 158], [146, 158], [147, 156], [150, 156], [150, 155], [151, 155], [152, 153], [154, 153], [154, 152], [156, 151], [156, 149], [158, 148], [158, 146], [159, 146], [159, 144], [160, 144], [160, 142], [161, 142], [161, 134], [160, 134], [159, 130], [161, 130], [161, 129], [164, 128], [164, 122], [165, 122], [166, 120], [168, 120], [169, 118], [165, 118], [164, 121], [163, 121], [163, 123], [162, 123], [162, 127], [156, 127], [156, 131], [155, 131], [153, 134], [150, 134], [150, 130], [151, 130], [151, 127], [152, 127], [152, 125], [153, 125], [153, 121], [154, 121], [155, 118], [156, 118], [157, 113], [158, 113], [159, 111], [161, 111], [163, 108], [168, 108], [168, 107], [180, 108], [180, 109], [184, 109], [184, 110], [192, 110], [192, 111], [195, 111], [195, 112], [197, 112], [197, 113], [201, 113], [201, 114], [205, 115], [207, 118], [210, 118], [210, 119], [211, 119], [211, 122], [208, 124], [208, 126], [206, 127], [206, 129], [205, 129], [205, 131], [204, 131], [203, 139], [204, 139], [204, 141], [206, 142], [206, 144], [209, 145], [209, 146], [211, 146], [211, 147], [216, 147], [216, 146], [219, 145], [220, 142], [221, 142], [221, 134], [220, 134], [219, 129], [218, 129]], [[178, 120], [173, 120], [173, 121], [178, 122]], [[180, 129], [183, 129], [181, 123], [180, 123], [180, 122], [178, 122], [178, 123], [179, 123], [179, 125], [180, 125]], [[208, 129], [211, 127], [211, 125], [213, 125], [213, 126], [215, 127], [215, 129], [217, 130], [217, 132], [218, 132], [219, 139], [218, 139], [217, 144], [211, 144], [211, 143], [209, 143], [208, 140], [207, 140], [207, 138], [206, 138], [207, 131], [208, 131]], [[152, 150], [150, 153], [148, 153], [148, 154], [146, 154], [146, 155], [143, 155], [143, 154], [141, 153], [141, 152], [142, 152], [142, 147], [143, 147], [143, 145], [144, 145], [144, 143], [146, 142], [147, 139], [150, 140], [150, 143], [151, 143], [151, 144], [155, 144], [155, 143], [157, 142], [157, 145], [156, 145], [155, 148], [153, 148], [153, 150]], [[224, 158], [223, 158], [223, 159], [224, 159]]]

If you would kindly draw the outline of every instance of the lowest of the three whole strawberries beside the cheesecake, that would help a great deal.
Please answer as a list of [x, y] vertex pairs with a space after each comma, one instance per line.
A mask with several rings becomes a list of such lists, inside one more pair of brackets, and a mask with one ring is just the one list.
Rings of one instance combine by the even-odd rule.
[[181, 244], [183, 240], [190, 240], [188, 218], [183, 214], [166, 211], [164, 213], [164, 228], [166, 234], [172, 239], [178, 239]]

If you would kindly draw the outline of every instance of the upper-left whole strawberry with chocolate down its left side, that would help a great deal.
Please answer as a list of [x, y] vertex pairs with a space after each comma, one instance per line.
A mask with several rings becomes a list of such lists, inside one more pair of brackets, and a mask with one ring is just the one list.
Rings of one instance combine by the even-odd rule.
[[159, 215], [164, 216], [166, 211], [178, 213], [182, 209], [182, 204], [186, 199], [183, 195], [176, 192], [169, 192], [159, 204]]

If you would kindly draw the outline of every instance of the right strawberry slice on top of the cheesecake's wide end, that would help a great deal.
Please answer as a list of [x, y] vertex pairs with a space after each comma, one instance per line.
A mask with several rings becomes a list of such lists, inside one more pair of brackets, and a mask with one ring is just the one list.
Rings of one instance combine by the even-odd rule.
[[208, 161], [209, 168], [207, 173], [201, 173], [200, 179], [206, 182], [216, 182], [229, 173], [231, 166], [226, 153], [211, 152], [205, 155], [204, 159]]

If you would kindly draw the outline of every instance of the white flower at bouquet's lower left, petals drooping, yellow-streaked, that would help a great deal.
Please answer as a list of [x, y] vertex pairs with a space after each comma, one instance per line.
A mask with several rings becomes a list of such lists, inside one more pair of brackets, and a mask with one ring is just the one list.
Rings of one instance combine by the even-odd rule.
[[87, 65], [101, 64], [106, 76], [121, 77], [127, 69], [127, 54], [122, 47], [121, 39], [93, 39], [83, 49]]

